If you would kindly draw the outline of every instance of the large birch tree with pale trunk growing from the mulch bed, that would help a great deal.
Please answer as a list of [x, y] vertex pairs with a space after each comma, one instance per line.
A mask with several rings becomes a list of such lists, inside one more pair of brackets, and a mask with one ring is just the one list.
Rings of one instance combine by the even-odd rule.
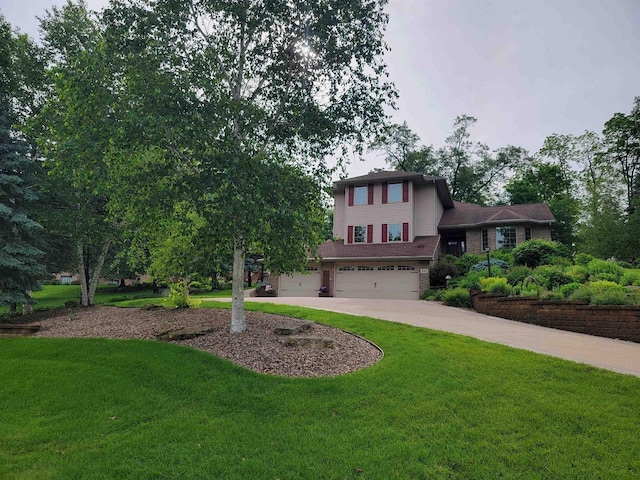
[[[116, 0], [105, 12], [129, 118], [181, 159], [184, 188], [232, 240], [233, 332], [246, 328], [249, 246], [259, 241], [283, 271], [300, 268], [317, 240], [304, 214], [315, 219], [321, 205], [322, 158], [361, 145], [385, 117], [385, 3]], [[160, 121], [163, 109], [175, 124]]]

